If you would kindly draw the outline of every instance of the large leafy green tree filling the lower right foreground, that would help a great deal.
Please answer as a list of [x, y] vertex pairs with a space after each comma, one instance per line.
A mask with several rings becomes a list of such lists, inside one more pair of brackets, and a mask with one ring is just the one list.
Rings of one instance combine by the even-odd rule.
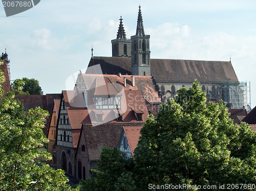
[[148, 117], [134, 153], [138, 190], [165, 183], [217, 190], [247, 184], [252, 190], [248, 184], [256, 183], [256, 133], [247, 124], [233, 125], [224, 102], [206, 105], [197, 81], [162, 104], [157, 120]]

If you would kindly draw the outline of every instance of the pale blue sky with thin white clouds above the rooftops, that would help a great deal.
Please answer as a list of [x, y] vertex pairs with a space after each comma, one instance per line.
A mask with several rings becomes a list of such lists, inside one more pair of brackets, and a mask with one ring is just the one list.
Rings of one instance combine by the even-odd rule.
[[56, 1], [6, 17], [0, 8], [0, 52], [11, 61], [11, 80], [34, 78], [46, 93], [66, 90], [94, 56], [112, 56], [122, 16], [126, 37], [135, 35], [141, 6], [151, 58], [229, 61], [240, 82], [251, 84], [256, 105], [256, 1]]

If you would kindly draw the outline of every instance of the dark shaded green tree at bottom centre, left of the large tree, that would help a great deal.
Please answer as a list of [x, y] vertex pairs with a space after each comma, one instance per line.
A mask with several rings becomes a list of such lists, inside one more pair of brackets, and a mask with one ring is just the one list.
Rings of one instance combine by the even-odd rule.
[[102, 147], [97, 166], [98, 170], [92, 171], [96, 177], [81, 180], [80, 183], [84, 191], [136, 190], [131, 172], [134, 167], [134, 160], [132, 158], [125, 159], [125, 154], [118, 148]]

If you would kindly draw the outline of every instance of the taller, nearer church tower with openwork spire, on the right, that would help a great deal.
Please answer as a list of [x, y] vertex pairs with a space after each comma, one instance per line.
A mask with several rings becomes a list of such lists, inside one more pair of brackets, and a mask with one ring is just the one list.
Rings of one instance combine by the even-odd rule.
[[137, 21], [136, 35], [132, 40], [132, 75], [151, 76], [150, 35], [145, 35], [141, 10]]

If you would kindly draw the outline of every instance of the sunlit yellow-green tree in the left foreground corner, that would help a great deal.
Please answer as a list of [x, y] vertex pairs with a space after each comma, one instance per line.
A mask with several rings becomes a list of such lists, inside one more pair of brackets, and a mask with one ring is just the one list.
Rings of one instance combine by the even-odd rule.
[[[3, 74], [0, 74], [3, 83]], [[51, 155], [40, 148], [48, 141], [42, 132], [47, 111], [31, 109], [24, 114], [23, 105], [9, 92], [0, 103], [0, 190], [79, 190], [66, 184], [62, 170], [36, 160]]]

